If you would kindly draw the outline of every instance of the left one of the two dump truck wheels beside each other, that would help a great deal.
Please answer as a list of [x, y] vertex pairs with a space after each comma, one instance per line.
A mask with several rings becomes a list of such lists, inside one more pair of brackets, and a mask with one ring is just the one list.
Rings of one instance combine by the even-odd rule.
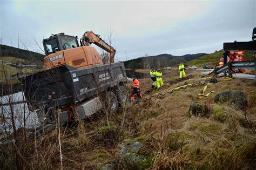
[[116, 95], [111, 92], [107, 91], [103, 96], [105, 108], [109, 113], [116, 113], [118, 110], [118, 101]]

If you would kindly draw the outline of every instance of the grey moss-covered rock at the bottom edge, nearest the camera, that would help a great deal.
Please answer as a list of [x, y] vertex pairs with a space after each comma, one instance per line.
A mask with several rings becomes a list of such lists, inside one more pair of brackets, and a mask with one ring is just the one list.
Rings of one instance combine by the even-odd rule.
[[140, 142], [124, 142], [119, 146], [116, 157], [117, 169], [146, 169], [151, 166], [151, 159], [138, 153], [143, 147]]

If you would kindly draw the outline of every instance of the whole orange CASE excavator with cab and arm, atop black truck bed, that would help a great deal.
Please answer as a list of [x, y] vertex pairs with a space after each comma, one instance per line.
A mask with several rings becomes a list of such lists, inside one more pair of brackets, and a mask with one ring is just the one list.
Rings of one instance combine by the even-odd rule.
[[58, 33], [43, 40], [46, 57], [44, 58], [45, 69], [52, 69], [60, 65], [68, 64], [77, 69], [92, 65], [104, 64], [100, 60], [100, 55], [91, 44], [95, 44], [103, 50], [109, 52], [108, 63], [114, 62], [116, 50], [107, 44], [99, 35], [92, 31], [86, 31], [80, 38], [80, 46], [77, 36]]

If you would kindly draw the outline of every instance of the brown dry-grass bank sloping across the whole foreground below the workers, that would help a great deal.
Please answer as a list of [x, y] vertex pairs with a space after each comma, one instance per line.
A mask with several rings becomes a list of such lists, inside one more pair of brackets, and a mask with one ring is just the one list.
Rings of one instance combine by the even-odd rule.
[[[177, 71], [164, 72], [165, 85], [160, 91], [151, 89], [150, 78], [140, 79], [145, 100], [128, 102], [117, 113], [109, 113], [108, 119], [107, 114], [98, 113], [86, 123], [63, 127], [29, 141], [21, 135], [19, 145], [2, 145], [0, 165], [12, 169], [17, 158], [10, 158], [22, 151], [18, 153], [22, 154], [19, 161], [28, 169], [38, 164], [43, 169], [100, 169], [105, 164], [116, 168], [124, 164], [136, 166], [134, 162], [125, 162], [130, 153], [132, 157], [143, 158], [140, 168], [119, 169], [255, 169], [255, 80], [219, 78], [217, 84], [208, 84], [205, 91], [214, 92], [199, 99], [198, 93], [204, 85], [170, 93], [180, 86], [180, 81], [185, 84], [204, 81], [199, 71], [187, 70], [187, 78], [182, 80], [177, 74]], [[127, 85], [127, 89], [130, 87]], [[230, 90], [246, 95], [245, 108], [214, 100], [217, 93]], [[154, 98], [146, 100], [153, 95]], [[193, 102], [201, 103], [203, 114], [190, 114]], [[19, 132], [23, 134], [22, 130]], [[138, 143], [142, 147], [137, 151], [127, 147], [127, 154], [118, 157], [120, 150], [125, 149], [121, 145]], [[12, 147], [15, 149], [11, 150]]]

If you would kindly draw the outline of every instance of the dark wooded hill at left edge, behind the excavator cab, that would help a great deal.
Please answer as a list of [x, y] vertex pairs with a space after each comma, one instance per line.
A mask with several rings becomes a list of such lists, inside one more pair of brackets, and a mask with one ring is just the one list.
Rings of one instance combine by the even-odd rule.
[[8, 45], [0, 45], [0, 57], [16, 57], [26, 59], [30, 62], [43, 62], [45, 55], [29, 50], [18, 49]]

